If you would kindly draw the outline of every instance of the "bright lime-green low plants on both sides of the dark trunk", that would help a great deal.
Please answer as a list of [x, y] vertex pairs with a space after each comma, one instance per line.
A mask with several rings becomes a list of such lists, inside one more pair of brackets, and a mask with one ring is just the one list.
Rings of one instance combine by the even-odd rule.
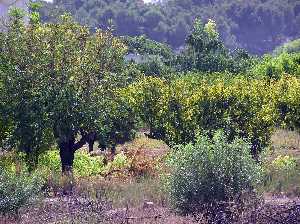
[[[59, 151], [51, 150], [40, 155], [38, 168], [39, 170], [42, 170], [45, 175], [48, 175], [49, 173], [61, 173]], [[75, 153], [75, 177], [89, 177], [99, 175], [103, 170], [103, 157], [91, 157], [90, 154], [86, 151], [78, 151]]]

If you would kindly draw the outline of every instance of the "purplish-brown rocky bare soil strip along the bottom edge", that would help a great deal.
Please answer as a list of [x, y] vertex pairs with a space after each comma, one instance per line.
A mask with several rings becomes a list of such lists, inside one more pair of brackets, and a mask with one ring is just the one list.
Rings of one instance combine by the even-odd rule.
[[[228, 222], [224, 214], [217, 223], [271, 224], [300, 223], [300, 199], [268, 197], [264, 203], [244, 211], [241, 217]], [[24, 208], [19, 218], [2, 217], [1, 224], [45, 224], [45, 223], [163, 223], [189, 224], [210, 223], [200, 215], [186, 217], [176, 215], [167, 207], [145, 201], [137, 207], [114, 208], [110, 203], [73, 196], [46, 198], [30, 208]]]

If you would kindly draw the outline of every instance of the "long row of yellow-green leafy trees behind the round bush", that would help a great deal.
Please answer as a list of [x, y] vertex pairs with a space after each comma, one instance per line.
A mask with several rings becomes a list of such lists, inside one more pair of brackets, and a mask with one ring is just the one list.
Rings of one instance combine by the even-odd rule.
[[[197, 132], [223, 129], [231, 139], [248, 138], [256, 154], [269, 143], [281, 118], [295, 124], [300, 121], [299, 90], [300, 81], [295, 77], [270, 81], [191, 76], [171, 83], [145, 78], [125, 94], [152, 134], [169, 144], [193, 141]], [[283, 103], [288, 105], [285, 114]]]

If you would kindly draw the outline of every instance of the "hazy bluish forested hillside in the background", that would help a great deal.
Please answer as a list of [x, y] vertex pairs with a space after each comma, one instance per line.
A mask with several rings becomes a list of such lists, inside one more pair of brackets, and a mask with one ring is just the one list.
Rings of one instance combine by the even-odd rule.
[[81, 24], [113, 26], [117, 35], [146, 35], [174, 49], [184, 45], [196, 17], [215, 20], [227, 47], [253, 54], [300, 37], [299, 0], [54, 0], [41, 9], [45, 22], [64, 11]]

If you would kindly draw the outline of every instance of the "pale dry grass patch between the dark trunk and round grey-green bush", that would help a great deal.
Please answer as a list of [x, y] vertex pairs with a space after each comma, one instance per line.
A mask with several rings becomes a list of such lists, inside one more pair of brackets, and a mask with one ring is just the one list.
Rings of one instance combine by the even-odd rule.
[[77, 183], [75, 191], [81, 197], [107, 201], [115, 208], [136, 207], [145, 201], [157, 205], [166, 204], [159, 180], [151, 177], [123, 180], [83, 179]]

